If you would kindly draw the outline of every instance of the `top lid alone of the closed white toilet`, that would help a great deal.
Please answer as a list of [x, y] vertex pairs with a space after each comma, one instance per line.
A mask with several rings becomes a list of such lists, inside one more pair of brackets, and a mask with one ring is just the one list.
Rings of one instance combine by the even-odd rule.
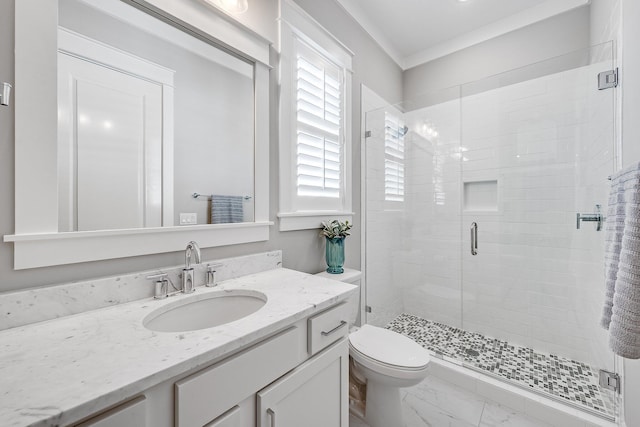
[[364, 325], [349, 335], [351, 346], [363, 355], [387, 365], [422, 368], [429, 353], [415, 341], [389, 329]]

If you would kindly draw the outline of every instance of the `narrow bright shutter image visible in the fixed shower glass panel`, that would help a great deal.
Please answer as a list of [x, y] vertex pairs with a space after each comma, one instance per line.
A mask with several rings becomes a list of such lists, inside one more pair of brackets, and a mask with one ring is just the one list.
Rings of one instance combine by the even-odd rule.
[[385, 113], [384, 126], [384, 198], [404, 201], [404, 123]]

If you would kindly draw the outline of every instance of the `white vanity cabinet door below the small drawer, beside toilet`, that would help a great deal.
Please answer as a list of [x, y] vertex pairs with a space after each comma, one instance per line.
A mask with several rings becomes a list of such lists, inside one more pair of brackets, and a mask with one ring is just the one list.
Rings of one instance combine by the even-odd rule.
[[258, 427], [348, 427], [349, 347], [341, 339], [258, 392]]

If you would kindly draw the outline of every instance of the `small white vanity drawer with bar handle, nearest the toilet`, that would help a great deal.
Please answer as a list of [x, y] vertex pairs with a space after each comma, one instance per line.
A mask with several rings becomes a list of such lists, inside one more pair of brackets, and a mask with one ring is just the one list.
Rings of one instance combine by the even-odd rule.
[[308, 328], [307, 350], [314, 355], [349, 334], [349, 304], [343, 302], [310, 317]]

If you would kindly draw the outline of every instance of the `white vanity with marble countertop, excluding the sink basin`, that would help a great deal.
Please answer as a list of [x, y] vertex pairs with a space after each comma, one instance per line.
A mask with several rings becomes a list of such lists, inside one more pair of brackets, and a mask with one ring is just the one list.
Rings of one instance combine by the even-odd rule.
[[[0, 425], [347, 427], [345, 301], [354, 291], [346, 283], [271, 268], [194, 296], [142, 299], [2, 330], [0, 366], [11, 369], [0, 375]], [[59, 292], [67, 295], [69, 287]], [[152, 313], [239, 293], [259, 293], [267, 303], [211, 328], [145, 327]], [[13, 306], [2, 298], [0, 305]], [[17, 301], [22, 298], [35, 300], [21, 295]], [[69, 363], [74, 354], [83, 357]]]

